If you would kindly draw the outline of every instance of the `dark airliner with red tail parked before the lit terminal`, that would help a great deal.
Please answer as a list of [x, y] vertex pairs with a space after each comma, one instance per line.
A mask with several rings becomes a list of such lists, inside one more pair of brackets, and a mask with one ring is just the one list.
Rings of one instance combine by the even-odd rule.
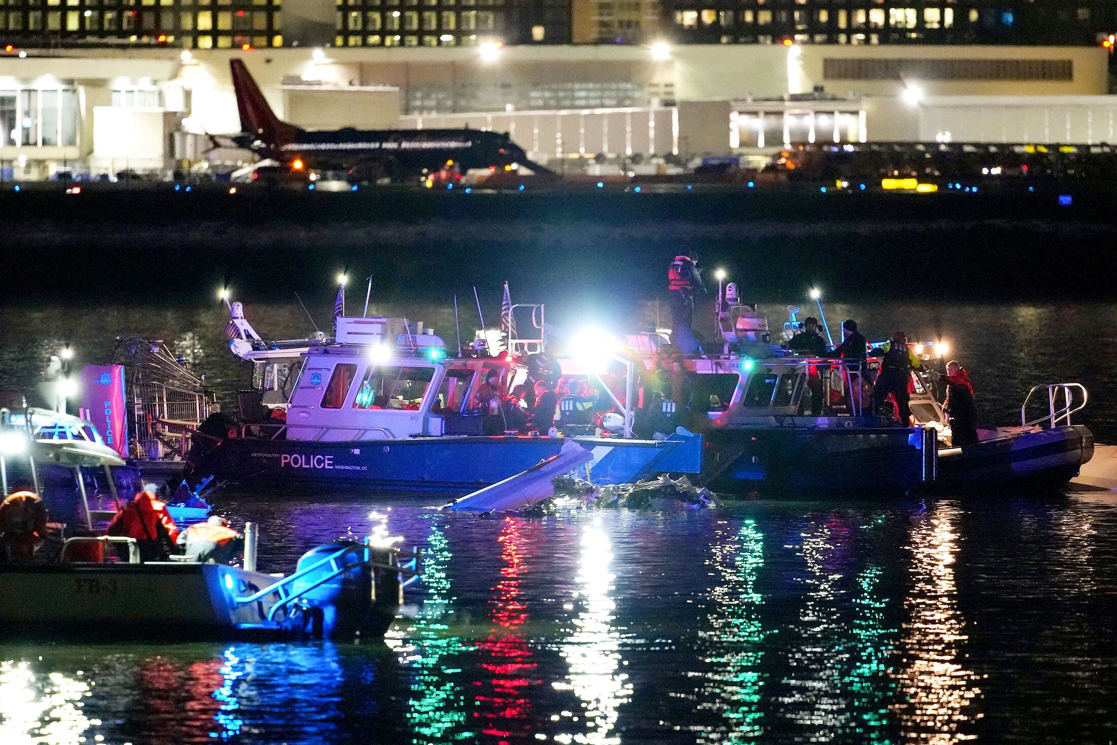
[[[262, 159], [290, 173], [346, 171], [351, 180], [405, 180], [470, 169], [505, 171], [533, 163], [507, 133], [480, 130], [355, 130], [307, 131], [280, 121], [239, 59], [229, 61], [244, 134], [238, 141]], [[507, 168], [506, 168], [507, 166]]]

